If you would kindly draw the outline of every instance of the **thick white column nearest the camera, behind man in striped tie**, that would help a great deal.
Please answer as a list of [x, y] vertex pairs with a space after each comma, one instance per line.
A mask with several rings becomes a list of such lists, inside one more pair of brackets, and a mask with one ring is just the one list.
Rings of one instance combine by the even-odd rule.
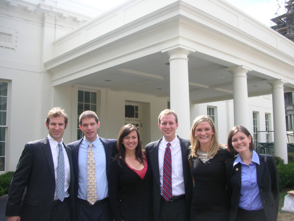
[[178, 116], [177, 135], [190, 138], [190, 98], [188, 78], [188, 55], [190, 51], [182, 48], [167, 52], [170, 59], [170, 96], [171, 110]]

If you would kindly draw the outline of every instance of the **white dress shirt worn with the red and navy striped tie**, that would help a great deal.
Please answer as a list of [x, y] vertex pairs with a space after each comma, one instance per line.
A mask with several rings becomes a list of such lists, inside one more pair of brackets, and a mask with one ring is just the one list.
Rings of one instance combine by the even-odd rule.
[[163, 180], [163, 158], [167, 143], [171, 144], [171, 183], [173, 189], [173, 196], [179, 196], [185, 194], [185, 184], [183, 175], [181, 144], [179, 142], [178, 136], [176, 136], [176, 138], [173, 139], [173, 141], [171, 142], [167, 142], [163, 137], [158, 145], [158, 166], [161, 194]]

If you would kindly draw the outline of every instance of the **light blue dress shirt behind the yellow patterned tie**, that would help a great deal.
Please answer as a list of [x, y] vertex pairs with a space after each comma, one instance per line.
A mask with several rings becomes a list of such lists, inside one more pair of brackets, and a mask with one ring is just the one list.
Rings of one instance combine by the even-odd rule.
[[[87, 161], [90, 142], [83, 137], [78, 149], [78, 198], [87, 200]], [[106, 156], [104, 146], [97, 135], [92, 142], [96, 166], [97, 200], [108, 197], [108, 182], [106, 176]]]

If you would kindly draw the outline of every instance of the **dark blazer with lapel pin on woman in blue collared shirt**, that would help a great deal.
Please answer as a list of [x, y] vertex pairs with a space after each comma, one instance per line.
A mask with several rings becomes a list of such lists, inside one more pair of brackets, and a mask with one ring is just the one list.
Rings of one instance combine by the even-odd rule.
[[[272, 156], [258, 154], [260, 165], [256, 164], [257, 183], [263, 208], [268, 221], [277, 220], [279, 208], [279, 180]], [[234, 167], [236, 157], [226, 161], [227, 189], [231, 199], [230, 221], [234, 221], [239, 207], [241, 192], [241, 164]], [[238, 168], [238, 169], [237, 169]]]

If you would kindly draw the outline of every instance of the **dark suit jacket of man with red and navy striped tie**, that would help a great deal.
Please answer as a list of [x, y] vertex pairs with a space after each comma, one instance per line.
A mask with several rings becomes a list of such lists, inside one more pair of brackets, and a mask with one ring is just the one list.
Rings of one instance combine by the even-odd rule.
[[[160, 201], [161, 201], [161, 191], [160, 191], [160, 178], [159, 178], [159, 165], [158, 165], [158, 145], [162, 141], [162, 138], [158, 141], [151, 142], [146, 145], [146, 155], [150, 161], [151, 169], [153, 173], [153, 215], [154, 220], [157, 221], [159, 217]], [[183, 175], [185, 184], [185, 194], [187, 203], [187, 217], [190, 217], [190, 206], [192, 201], [192, 189], [193, 182], [190, 172], [190, 166], [188, 163], [189, 146], [191, 145], [189, 140], [179, 138], [181, 149], [182, 149], [182, 159], [183, 159]]]

